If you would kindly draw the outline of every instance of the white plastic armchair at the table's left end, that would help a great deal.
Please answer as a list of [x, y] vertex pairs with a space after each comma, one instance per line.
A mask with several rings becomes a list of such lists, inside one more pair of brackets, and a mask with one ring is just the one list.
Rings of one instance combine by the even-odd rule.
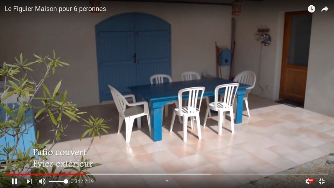
[[[137, 118], [137, 126], [141, 128], [141, 119], [142, 116], [147, 116], [148, 128], [151, 133], [151, 123], [150, 123], [150, 112], [148, 108], [148, 103], [146, 101], [136, 102], [135, 96], [130, 95], [122, 95], [119, 91], [117, 91], [112, 86], [108, 85], [113, 95], [116, 108], [119, 112], [119, 123], [118, 123], [118, 132], [120, 133], [123, 121], [125, 120], [125, 142], [130, 142], [130, 137], [132, 133], [133, 121]], [[132, 97], [133, 103], [129, 103], [125, 98]], [[144, 108], [140, 107], [141, 105]], [[127, 108], [129, 106], [130, 108]]]

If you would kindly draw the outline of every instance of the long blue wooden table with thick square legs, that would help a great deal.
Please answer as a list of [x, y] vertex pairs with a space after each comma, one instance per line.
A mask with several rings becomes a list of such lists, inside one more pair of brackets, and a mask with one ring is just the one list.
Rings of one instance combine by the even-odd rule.
[[[131, 86], [129, 89], [136, 96], [136, 101], [141, 101], [142, 98], [148, 102], [151, 116], [151, 138], [153, 141], [159, 141], [162, 139], [162, 107], [166, 103], [178, 100], [178, 92], [180, 89], [189, 87], [204, 86], [205, 91], [203, 97], [214, 96], [214, 89], [221, 84], [235, 83], [233, 81], [224, 80], [221, 78], [208, 78], [201, 80], [191, 80], [182, 82], [171, 82], [155, 85], [141, 85]], [[250, 87], [246, 84], [240, 84], [237, 90], [237, 105], [236, 105], [236, 117], [235, 123], [242, 122], [243, 111], [243, 96], [246, 93], [246, 88]], [[219, 94], [223, 94], [225, 91], [219, 91]], [[188, 98], [188, 97], [187, 97]], [[213, 97], [211, 97], [212, 99]]]

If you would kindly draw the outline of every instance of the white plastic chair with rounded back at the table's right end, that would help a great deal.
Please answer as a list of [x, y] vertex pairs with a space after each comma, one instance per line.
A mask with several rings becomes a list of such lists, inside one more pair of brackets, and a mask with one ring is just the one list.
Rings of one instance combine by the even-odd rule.
[[[251, 89], [253, 89], [255, 86], [255, 82], [256, 82], [255, 73], [253, 71], [243, 71], [234, 77], [233, 82], [238, 82], [241, 84], [247, 84], [251, 86], [251, 87], [246, 88], [246, 94], [243, 96], [243, 100], [245, 101], [245, 104], [246, 104], [248, 117], [251, 117], [251, 115], [249, 114], [249, 108], [248, 108], [248, 94], [249, 92], [251, 92]], [[220, 101], [221, 100], [222, 99], [220, 99]]]

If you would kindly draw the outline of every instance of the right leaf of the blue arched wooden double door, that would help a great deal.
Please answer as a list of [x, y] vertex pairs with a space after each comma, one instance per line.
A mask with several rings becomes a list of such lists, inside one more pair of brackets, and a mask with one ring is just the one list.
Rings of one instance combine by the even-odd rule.
[[150, 14], [135, 15], [137, 85], [150, 84], [155, 74], [171, 75], [171, 26]]

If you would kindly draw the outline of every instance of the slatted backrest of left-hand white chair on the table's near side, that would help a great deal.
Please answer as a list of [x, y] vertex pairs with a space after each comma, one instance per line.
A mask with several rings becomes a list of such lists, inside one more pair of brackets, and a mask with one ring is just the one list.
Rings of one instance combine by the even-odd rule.
[[204, 94], [205, 87], [191, 87], [191, 88], [185, 88], [181, 89], [178, 93], [178, 100], [179, 100], [179, 112], [182, 110], [182, 94], [188, 93], [188, 103], [184, 107], [188, 107], [188, 111], [182, 111], [183, 113], [192, 114], [197, 111], [197, 104], [198, 104], [198, 97], [200, 97], [199, 100], [199, 107], [201, 107], [202, 98]]

